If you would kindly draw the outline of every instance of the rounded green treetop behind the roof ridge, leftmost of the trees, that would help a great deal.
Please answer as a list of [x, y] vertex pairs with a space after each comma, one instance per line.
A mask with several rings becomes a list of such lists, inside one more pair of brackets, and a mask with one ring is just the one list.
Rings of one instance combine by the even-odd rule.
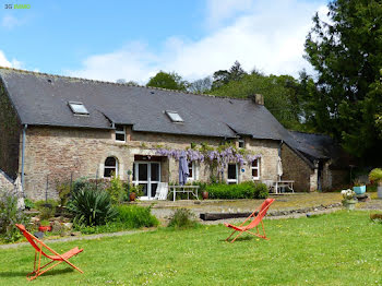
[[167, 73], [159, 71], [155, 76], [150, 79], [146, 86], [186, 91], [189, 83], [183, 81], [182, 78], [176, 72]]

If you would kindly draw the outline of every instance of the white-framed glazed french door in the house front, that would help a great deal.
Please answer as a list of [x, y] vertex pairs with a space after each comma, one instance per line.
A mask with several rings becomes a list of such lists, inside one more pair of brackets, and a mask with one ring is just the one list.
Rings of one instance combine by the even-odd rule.
[[158, 182], [160, 182], [160, 163], [134, 162], [133, 183], [143, 187], [141, 200], [154, 199]]

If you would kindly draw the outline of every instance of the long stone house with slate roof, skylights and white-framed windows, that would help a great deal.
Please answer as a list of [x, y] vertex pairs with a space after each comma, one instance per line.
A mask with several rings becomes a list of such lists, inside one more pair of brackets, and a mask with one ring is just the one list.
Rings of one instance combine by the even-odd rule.
[[[0, 68], [0, 168], [12, 179], [20, 176], [32, 199], [56, 196], [60, 180], [112, 172], [142, 184], [152, 199], [158, 182], [178, 180], [178, 163], [159, 156], [159, 146], [186, 150], [227, 141], [261, 154], [242, 167], [228, 164], [223, 174], [228, 183], [276, 180], [284, 153], [283, 178], [296, 180], [298, 190], [318, 189], [317, 162], [306, 162], [301, 143], [261, 95], [223, 98], [8, 68]], [[190, 162], [189, 168], [190, 180], [210, 180], [205, 164]], [[310, 172], [303, 177], [295, 168]]]

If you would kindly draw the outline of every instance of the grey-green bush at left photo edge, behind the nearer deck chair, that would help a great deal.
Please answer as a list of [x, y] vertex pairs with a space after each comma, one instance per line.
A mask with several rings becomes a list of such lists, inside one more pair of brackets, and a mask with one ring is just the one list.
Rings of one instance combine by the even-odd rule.
[[26, 225], [24, 213], [17, 208], [17, 196], [4, 193], [0, 198], [0, 236], [5, 242], [14, 242], [21, 238], [15, 224]]

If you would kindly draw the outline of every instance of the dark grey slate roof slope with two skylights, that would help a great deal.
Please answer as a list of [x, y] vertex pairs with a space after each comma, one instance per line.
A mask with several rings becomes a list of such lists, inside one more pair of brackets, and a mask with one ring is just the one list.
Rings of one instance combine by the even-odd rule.
[[[162, 88], [0, 69], [23, 124], [110, 129], [110, 121], [134, 131], [282, 140], [284, 128], [251, 99], [194, 95]], [[82, 102], [89, 116], [74, 116], [68, 102]], [[177, 111], [183, 123], [165, 114]], [[108, 120], [109, 119], [109, 120]]]

